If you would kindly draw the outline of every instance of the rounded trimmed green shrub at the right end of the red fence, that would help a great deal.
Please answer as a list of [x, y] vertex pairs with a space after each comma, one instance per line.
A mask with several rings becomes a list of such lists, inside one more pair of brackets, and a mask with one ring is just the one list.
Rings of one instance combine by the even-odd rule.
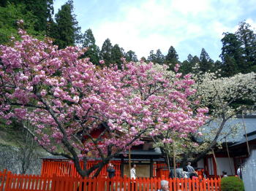
[[244, 191], [244, 182], [236, 176], [222, 178], [222, 191]]

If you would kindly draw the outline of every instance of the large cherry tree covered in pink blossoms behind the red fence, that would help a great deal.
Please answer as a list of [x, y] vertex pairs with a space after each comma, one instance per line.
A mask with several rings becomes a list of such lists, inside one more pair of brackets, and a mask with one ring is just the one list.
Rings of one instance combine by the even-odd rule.
[[[79, 59], [85, 50], [78, 47], [58, 50], [50, 39], [19, 33], [20, 41], [0, 46], [0, 118], [29, 121], [36, 130], [23, 128], [52, 155], [72, 160], [82, 177], [97, 176], [111, 158], [142, 144], [141, 136], [196, 132], [206, 119], [206, 109], [192, 112], [189, 75], [165, 75], [153, 63], [101, 68]], [[100, 125], [102, 133], [91, 136]], [[91, 157], [100, 161], [87, 168]]]

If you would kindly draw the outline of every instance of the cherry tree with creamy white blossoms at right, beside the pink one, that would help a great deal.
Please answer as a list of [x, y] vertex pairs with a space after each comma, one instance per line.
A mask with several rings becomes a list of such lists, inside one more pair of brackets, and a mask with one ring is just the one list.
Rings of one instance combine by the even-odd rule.
[[[203, 132], [203, 144], [196, 147], [191, 155], [199, 154], [193, 158], [197, 162], [211, 151], [225, 136], [236, 133], [237, 124], [224, 129], [227, 121], [233, 120], [242, 111], [255, 109], [256, 81], [255, 73], [236, 74], [233, 77], [219, 77], [219, 72], [195, 74], [193, 79], [197, 82], [195, 96], [200, 101], [199, 106], [208, 106], [209, 118], [205, 125], [198, 131]], [[189, 149], [187, 149], [189, 150]], [[191, 151], [191, 149], [190, 149]]]

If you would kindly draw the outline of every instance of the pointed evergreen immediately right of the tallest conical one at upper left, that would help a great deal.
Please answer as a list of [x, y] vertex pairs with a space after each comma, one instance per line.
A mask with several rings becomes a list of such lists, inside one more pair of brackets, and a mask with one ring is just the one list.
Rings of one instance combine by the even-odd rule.
[[83, 47], [88, 47], [82, 58], [90, 58], [91, 63], [99, 63], [99, 47], [95, 44], [94, 34], [91, 29], [85, 31], [83, 34]]

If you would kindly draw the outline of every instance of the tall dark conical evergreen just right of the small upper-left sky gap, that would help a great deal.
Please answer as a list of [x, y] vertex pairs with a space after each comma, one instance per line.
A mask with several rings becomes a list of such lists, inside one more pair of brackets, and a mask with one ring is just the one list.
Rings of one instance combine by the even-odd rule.
[[55, 15], [56, 23], [50, 27], [50, 36], [55, 39], [55, 44], [59, 45], [60, 49], [80, 42], [80, 27], [72, 12], [73, 1], [69, 0], [61, 6]]

